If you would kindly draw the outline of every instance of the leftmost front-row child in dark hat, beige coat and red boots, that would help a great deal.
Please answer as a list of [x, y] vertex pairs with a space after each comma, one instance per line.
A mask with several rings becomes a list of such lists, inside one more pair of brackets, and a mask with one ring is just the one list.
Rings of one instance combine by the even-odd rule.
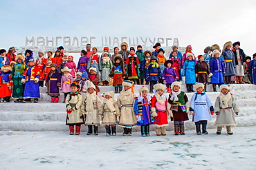
[[[66, 125], [69, 126], [69, 134], [80, 134], [81, 125], [84, 124], [84, 117], [80, 106], [82, 96], [79, 93], [79, 85], [71, 84], [71, 93], [66, 96]], [[74, 132], [75, 126], [75, 132]]]

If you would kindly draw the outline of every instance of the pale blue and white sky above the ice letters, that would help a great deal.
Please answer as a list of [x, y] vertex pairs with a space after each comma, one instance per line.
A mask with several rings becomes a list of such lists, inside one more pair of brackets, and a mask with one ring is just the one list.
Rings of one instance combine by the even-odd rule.
[[142, 36], [178, 38], [196, 55], [215, 43], [222, 50], [227, 41], [240, 41], [249, 56], [256, 52], [253, 0], [0, 1], [6, 50], [25, 46], [26, 36]]

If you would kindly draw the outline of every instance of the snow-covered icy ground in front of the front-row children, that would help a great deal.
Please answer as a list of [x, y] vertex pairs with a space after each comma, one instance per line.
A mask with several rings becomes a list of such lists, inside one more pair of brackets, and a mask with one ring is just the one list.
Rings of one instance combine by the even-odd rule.
[[233, 127], [232, 136], [208, 131], [149, 137], [0, 131], [0, 169], [256, 169], [255, 127]]

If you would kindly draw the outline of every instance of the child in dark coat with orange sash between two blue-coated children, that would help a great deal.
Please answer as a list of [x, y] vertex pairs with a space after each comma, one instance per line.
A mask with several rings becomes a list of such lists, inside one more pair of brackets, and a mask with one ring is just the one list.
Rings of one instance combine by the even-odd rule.
[[208, 64], [204, 61], [204, 56], [199, 55], [197, 56], [199, 61], [196, 63], [196, 77], [198, 78], [198, 82], [204, 84], [204, 89], [206, 91], [206, 86], [208, 83], [208, 75], [212, 76]]

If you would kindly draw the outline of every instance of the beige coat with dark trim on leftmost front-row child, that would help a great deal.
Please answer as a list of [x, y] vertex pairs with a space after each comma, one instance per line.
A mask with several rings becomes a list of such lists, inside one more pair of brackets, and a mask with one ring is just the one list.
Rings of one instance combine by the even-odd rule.
[[[80, 109], [82, 105], [82, 95], [70, 95], [66, 96], [66, 109], [75, 109], [70, 114], [66, 115], [66, 125], [84, 124], [84, 117], [82, 115], [82, 110]], [[71, 107], [71, 103], [76, 103], [75, 107]]]

